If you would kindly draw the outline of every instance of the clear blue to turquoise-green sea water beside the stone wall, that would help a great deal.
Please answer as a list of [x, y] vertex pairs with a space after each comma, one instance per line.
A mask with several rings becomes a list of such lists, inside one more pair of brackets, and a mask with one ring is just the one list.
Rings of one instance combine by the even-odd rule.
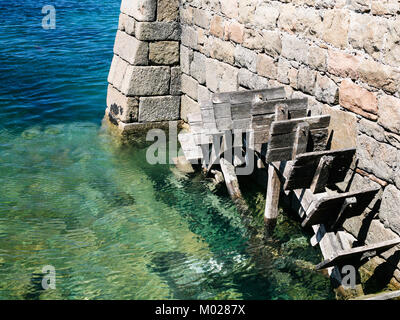
[[[223, 189], [113, 143], [101, 120], [119, 0], [50, 4], [55, 30], [37, 1], [0, 3], [0, 298], [333, 298], [296, 221], [281, 215], [261, 245]], [[246, 197], [260, 222], [263, 191]]]

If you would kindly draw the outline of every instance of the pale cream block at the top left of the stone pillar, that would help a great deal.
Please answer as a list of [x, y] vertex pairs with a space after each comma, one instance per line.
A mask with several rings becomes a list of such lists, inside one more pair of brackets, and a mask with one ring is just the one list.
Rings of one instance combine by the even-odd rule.
[[138, 21], [155, 21], [157, 0], [122, 0], [121, 12]]

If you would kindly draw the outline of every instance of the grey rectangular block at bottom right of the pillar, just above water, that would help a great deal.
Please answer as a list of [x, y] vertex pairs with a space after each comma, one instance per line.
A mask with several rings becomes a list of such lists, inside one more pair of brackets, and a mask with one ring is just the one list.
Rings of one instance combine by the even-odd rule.
[[180, 100], [179, 96], [141, 97], [139, 103], [139, 121], [178, 120]]

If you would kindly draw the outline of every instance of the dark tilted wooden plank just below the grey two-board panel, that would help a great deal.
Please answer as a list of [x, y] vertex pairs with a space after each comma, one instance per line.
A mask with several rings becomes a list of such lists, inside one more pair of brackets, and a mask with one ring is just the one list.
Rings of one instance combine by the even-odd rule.
[[343, 181], [355, 154], [356, 149], [350, 148], [297, 155], [290, 170], [287, 172], [287, 176], [285, 176], [284, 190], [310, 188], [322, 157], [333, 158], [329, 178], [326, 183], [330, 185]]

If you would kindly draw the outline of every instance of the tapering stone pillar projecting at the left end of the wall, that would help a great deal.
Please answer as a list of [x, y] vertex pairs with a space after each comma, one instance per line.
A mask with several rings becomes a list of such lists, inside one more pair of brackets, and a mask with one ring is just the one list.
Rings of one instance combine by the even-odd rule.
[[122, 1], [106, 113], [123, 131], [180, 118], [180, 37], [178, 1]]

